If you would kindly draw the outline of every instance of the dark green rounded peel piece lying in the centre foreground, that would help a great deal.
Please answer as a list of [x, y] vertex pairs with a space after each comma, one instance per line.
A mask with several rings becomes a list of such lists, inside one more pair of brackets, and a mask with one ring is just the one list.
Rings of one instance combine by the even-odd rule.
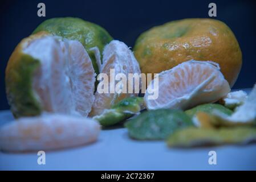
[[193, 127], [192, 119], [181, 110], [144, 111], [125, 123], [129, 136], [138, 140], [165, 139], [174, 131]]

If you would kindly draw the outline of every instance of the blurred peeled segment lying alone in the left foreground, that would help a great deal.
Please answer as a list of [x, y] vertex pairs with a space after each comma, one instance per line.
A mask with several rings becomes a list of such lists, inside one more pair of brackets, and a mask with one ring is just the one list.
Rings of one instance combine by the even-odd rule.
[[10, 152], [55, 150], [95, 142], [100, 125], [90, 118], [62, 114], [19, 118], [1, 127], [0, 149]]

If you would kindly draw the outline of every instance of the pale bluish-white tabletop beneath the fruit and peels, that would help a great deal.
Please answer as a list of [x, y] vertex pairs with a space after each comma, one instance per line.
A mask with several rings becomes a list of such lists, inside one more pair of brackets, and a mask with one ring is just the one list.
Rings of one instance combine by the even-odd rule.
[[[0, 111], [0, 125], [13, 120]], [[209, 151], [217, 152], [217, 164], [208, 163]], [[88, 146], [46, 151], [46, 164], [37, 163], [37, 152], [0, 152], [1, 170], [256, 170], [256, 144], [193, 149], [168, 148], [164, 141], [136, 141], [126, 129], [103, 130]]]

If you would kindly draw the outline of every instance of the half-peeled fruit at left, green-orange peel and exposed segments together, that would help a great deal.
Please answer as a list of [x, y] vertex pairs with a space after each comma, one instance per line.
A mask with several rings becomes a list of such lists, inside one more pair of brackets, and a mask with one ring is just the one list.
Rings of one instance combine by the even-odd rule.
[[6, 94], [15, 117], [52, 113], [87, 116], [95, 72], [77, 40], [39, 32], [23, 39], [6, 68]]

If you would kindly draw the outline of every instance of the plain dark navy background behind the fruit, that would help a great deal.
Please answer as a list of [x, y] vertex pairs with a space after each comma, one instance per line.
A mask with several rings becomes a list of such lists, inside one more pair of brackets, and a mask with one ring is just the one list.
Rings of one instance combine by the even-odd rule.
[[[46, 17], [37, 16], [39, 2]], [[256, 81], [256, 6], [253, 1], [1, 1], [0, 3], [0, 109], [9, 109], [5, 96], [5, 67], [11, 52], [48, 18], [75, 16], [104, 27], [113, 38], [133, 47], [141, 32], [170, 20], [209, 18], [208, 5], [217, 5], [217, 19], [233, 30], [243, 53], [243, 66], [234, 88]]]

